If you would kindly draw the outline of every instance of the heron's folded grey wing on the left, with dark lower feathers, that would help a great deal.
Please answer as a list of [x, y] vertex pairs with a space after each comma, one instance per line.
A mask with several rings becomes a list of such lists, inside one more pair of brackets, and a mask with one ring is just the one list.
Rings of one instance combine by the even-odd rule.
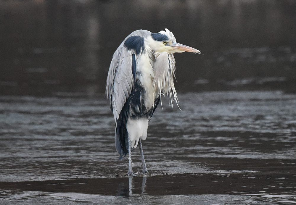
[[128, 153], [128, 133], [126, 122], [129, 114], [129, 96], [133, 89], [134, 77], [132, 60], [134, 54], [124, 46], [119, 46], [113, 55], [107, 78], [107, 96], [115, 120], [115, 148], [119, 159]]

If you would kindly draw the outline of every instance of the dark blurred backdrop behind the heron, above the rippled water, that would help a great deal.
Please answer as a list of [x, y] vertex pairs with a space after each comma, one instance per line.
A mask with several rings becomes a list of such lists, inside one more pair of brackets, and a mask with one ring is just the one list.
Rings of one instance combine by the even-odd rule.
[[104, 92], [132, 31], [171, 30], [177, 91], [295, 92], [294, 0], [0, 0], [0, 94]]

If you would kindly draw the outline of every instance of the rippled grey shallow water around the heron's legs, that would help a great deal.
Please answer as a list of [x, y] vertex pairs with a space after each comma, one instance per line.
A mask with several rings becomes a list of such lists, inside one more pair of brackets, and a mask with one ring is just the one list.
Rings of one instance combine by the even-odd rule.
[[150, 121], [149, 176], [126, 177], [103, 95], [0, 96], [0, 204], [296, 204], [296, 95], [178, 98]]

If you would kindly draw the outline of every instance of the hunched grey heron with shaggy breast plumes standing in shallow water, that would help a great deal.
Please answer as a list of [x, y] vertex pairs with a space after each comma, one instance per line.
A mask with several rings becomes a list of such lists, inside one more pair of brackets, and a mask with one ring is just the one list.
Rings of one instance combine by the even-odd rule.
[[107, 96], [115, 120], [115, 147], [119, 158], [128, 153], [128, 175], [133, 175], [131, 150], [139, 143], [143, 174], [147, 168], [141, 139], [147, 137], [149, 120], [162, 95], [178, 103], [174, 86], [174, 53], [199, 53], [176, 43], [168, 29], [159, 33], [136, 30], [120, 44], [113, 54], [107, 78]]

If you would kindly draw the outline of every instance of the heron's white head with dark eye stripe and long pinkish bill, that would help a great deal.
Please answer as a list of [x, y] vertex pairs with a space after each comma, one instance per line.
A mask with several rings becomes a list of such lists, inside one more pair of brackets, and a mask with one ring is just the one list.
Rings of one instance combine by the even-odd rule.
[[167, 28], [165, 31], [152, 33], [151, 37], [150, 47], [156, 52], [182, 53], [187, 51], [200, 54], [197, 49], [177, 43], [174, 34]]

